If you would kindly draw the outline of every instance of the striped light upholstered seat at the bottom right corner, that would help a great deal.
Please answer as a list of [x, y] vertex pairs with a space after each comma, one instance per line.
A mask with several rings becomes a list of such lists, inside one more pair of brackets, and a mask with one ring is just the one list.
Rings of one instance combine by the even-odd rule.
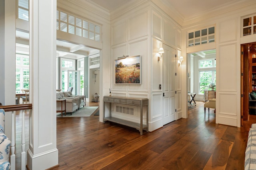
[[248, 133], [248, 141], [245, 150], [244, 159], [245, 170], [256, 170], [256, 123], [252, 124], [252, 127]]

